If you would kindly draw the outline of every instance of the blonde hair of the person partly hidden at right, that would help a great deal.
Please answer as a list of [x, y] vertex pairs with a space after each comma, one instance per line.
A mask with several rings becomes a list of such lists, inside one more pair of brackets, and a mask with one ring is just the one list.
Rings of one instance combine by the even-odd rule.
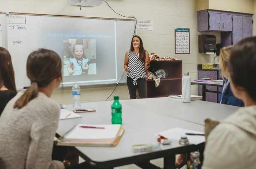
[[223, 47], [220, 51], [219, 60], [221, 59], [220, 70], [221, 70], [222, 79], [223, 78], [226, 78], [228, 80], [230, 79], [228, 63], [229, 63], [229, 57], [230, 57], [230, 52], [232, 47], [233, 46], [226, 46], [226, 47]]

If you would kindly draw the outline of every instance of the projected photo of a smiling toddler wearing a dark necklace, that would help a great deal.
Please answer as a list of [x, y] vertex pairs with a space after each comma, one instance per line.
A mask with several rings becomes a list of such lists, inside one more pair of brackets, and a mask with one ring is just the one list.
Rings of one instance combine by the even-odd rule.
[[[63, 40], [63, 76], [81, 74], [97, 74], [96, 39], [64, 39]], [[94, 60], [94, 61], [93, 61]]]

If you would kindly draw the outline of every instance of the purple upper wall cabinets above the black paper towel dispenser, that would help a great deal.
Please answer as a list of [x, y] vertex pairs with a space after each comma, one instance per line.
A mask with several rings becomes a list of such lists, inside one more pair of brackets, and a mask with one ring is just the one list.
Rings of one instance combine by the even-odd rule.
[[222, 47], [252, 36], [252, 14], [217, 10], [198, 11], [198, 31], [221, 31]]

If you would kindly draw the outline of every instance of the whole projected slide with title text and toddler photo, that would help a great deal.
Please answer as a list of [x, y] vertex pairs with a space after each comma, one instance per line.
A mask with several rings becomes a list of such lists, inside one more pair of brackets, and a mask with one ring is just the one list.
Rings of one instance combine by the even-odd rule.
[[42, 31], [41, 46], [62, 59], [62, 84], [90, 84], [117, 80], [113, 31]]

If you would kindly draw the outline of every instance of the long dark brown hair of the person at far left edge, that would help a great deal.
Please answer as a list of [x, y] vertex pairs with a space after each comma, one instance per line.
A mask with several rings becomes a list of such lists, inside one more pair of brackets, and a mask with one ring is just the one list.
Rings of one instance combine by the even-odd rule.
[[2, 47], [0, 47], [0, 77], [0, 88], [4, 85], [7, 89], [16, 91], [11, 55]]

